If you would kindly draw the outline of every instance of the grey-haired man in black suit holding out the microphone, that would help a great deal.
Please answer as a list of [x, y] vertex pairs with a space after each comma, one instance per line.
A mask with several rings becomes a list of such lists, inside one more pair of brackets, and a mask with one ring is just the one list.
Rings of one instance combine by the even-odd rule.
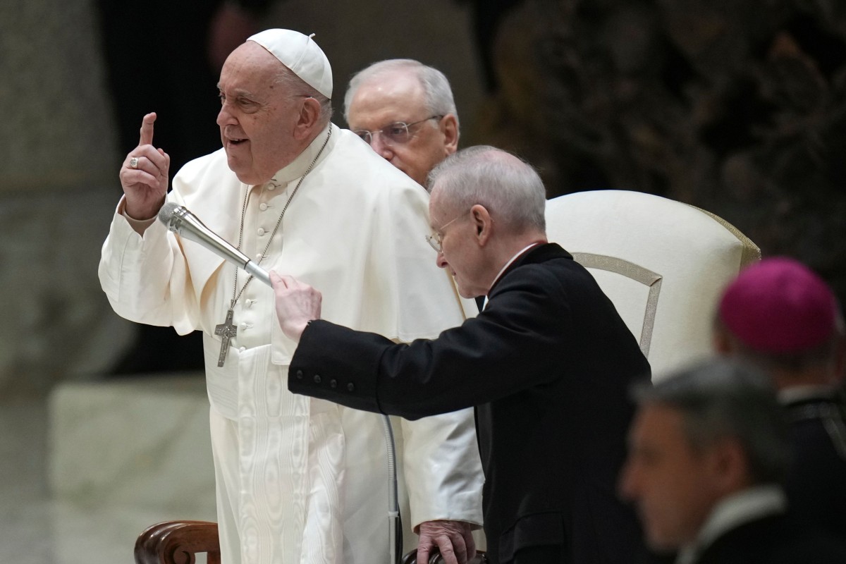
[[462, 296], [486, 295], [485, 308], [396, 344], [319, 320], [321, 294], [274, 272], [280, 325], [299, 341], [288, 387], [408, 419], [475, 406], [489, 561], [631, 561], [640, 528], [614, 485], [634, 413], [627, 391], [649, 383], [649, 364], [591, 274], [547, 243], [529, 165], [472, 147], [429, 183], [437, 265]]

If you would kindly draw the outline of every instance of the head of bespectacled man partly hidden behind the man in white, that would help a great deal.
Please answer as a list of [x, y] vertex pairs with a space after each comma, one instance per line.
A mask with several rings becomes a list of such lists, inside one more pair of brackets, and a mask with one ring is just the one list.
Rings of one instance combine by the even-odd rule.
[[459, 146], [459, 114], [437, 68], [388, 59], [355, 74], [343, 96], [349, 129], [387, 162], [426, 186], [426, 177]]

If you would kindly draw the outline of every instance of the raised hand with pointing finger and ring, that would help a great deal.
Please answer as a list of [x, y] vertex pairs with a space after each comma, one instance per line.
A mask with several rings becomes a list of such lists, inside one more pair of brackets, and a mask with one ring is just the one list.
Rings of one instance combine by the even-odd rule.
[[152, 145], [155, 122], [155, 112], [144, 116], [138, 146], [129, 151], [120, 167], [120, 184], [126, 194], [125, 211], [135, 219], [156, 216], [168, 193], [170, 156]]

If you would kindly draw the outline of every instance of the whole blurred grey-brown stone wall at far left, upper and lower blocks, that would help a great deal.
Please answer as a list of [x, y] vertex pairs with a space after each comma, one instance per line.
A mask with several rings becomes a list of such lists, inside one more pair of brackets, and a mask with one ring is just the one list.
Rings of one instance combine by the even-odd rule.
[[116, 151], [91, 6], [0, 3], [0, 393], [102, 372], [132, 328], [99, 290]]

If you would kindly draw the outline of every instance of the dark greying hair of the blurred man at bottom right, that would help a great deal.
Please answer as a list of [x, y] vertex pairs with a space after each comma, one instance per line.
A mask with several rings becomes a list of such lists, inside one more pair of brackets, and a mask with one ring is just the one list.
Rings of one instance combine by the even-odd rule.
[[789, 463], [788, 424], [772, 383], [760, 372], [713, 359], [655, 386], [634, 388], [638, 404], [678, 410], [689, 445], [700, 450], [724, 438], [742, 446], [755, 484], [781, 483]]

